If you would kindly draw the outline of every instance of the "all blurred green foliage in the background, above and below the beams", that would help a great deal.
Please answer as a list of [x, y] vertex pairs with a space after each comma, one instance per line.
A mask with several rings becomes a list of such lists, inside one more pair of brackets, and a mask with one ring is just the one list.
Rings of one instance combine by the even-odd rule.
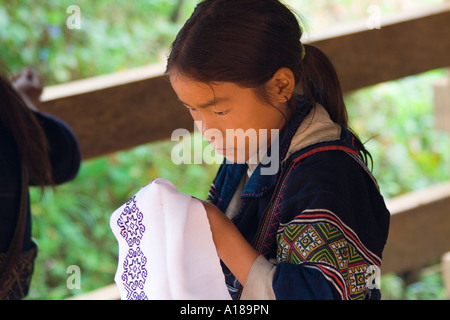
[[[366, 14], [368, 5], [289, 2], [305, 16], [310, 30], [328, 28], [325, 21], [355, 20]], [[0, 56], [12, 72], [34, 67], [49, 85], [163, 61], [195, 3], [0, 0]], [[397, 12], [402, 3], [389, 2], [385, 11]], [[66, 27], [66, 10], [72, 4], [81, 9], [79, 30]], [[435, 70], [346, 96], [351, 126], [368, 140], [373, 171], [386, 198], [450, 179], [449, 134], [433, 127], [432, 84], [444, 75]], [[110, 215], [149, 180], [164, 177], [181, 192], [206, 197], [217, 166], [174, 165], [173, 146], [162, 141], [85, 161], [77, 178], [56, 191], [31, 190], [33, 235], [40, 251], [28, 299], [61, 299], [112, 283], [117, 244]], [[70, 265], [81, 269], [79, 290], [66, 286]], [[385, 296], [394, 299], [442, 299], [442, 288], [439, 273], [406, 289], [396, 275], [382, 279]]]

